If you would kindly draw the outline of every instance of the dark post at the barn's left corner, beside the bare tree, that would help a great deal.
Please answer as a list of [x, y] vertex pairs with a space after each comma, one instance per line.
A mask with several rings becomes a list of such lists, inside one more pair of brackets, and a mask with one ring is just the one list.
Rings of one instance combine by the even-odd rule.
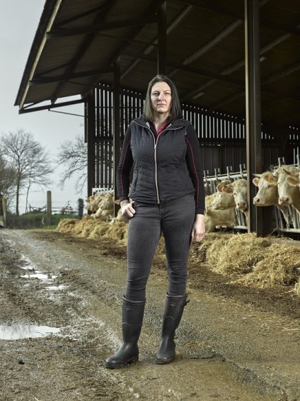
[[95, 142], [96, 142], [96, 104], [95, 89], [86, 96], [86, 142], [88, 144], [88, 196], [93, 193], [95, 186]]

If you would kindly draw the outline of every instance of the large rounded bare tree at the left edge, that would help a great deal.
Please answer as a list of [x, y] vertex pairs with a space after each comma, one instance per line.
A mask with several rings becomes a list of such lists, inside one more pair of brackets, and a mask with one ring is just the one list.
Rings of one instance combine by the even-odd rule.
[[49, 175], [53, 172], [49, 154], [45, 148], [35, 141], [30, 132], [17, 130], [9, 132], [1, 138], [6, 159], [16, 171], [16, 215], [19, 214], [19, 198], [26, 188], [28, 193], [33, 184], [47, 186]]

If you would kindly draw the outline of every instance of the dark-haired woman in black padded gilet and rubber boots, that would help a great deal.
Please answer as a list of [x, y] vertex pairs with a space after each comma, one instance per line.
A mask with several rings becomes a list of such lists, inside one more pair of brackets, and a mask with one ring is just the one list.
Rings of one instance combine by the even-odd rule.
[[117, 193], [122, 214], [130, 219], [127, 288], [122, 303], [123, 343], [106, 360], [106, 367], [118, 368], [139, 358], [146, 282], [161, 232], [168, 291], [156, 362], [170, 363], [175, 358], [175, 329], [187, 304], [190, 241], [201, 241], [205, 230], [197, 135], [183, 120], [177, 90], [168, 77], [157, 75], [149, 82], [144, 114], [129, 124], [117, 169]]

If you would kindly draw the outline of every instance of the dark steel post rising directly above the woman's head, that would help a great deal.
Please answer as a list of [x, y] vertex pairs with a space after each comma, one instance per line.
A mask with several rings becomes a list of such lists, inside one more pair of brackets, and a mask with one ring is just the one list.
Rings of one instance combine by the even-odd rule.
[[167, 2], [164, 1], [158, 10], [158, 62], [157, 73], [166, 74], [166, 53], [167, 53]]

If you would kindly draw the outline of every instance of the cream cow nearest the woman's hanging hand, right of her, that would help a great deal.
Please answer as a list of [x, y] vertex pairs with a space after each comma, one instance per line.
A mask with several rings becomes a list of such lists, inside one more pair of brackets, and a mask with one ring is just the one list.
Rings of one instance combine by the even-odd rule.
[[217, 193], [205, 196], [204, 226], [206, 232], [212, 232], [215, 227], [226, 225], [233, 227], [235, 224], [234, 209], [216, 210], [212, 208], [212, 202]]

